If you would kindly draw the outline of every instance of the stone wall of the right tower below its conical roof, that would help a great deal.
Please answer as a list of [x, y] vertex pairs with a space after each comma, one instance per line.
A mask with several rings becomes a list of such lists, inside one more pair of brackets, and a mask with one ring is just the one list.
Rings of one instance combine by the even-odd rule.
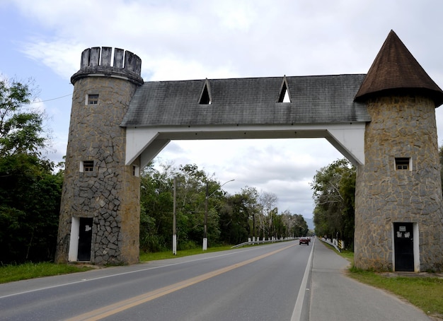
[[[435, 103], [413, 95], [370, 100], [365, 163], [357, 168], [355, 265], [393, 270], [393, 223], [418, 224], [420, 271], [443, 270], [443, 214]], [[396, 170], [395, 158], [411, 158]], [[416, 272], [420, 272], [416, 271]]]

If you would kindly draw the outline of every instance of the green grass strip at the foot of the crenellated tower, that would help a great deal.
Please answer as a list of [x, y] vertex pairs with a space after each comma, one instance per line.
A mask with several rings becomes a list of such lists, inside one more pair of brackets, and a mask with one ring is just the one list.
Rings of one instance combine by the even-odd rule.
[[50, 262], [4, 265], [0, 267], [0, 284], [12, 281], [35, 279], [42, 276], [85, 272], [89, 269], [92, 268], [71, 264], [54, 264]]

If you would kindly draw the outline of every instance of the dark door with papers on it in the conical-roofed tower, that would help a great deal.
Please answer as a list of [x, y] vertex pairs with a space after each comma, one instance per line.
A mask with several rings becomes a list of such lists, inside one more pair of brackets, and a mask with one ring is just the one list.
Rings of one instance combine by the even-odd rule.
[[414, 271], [413, 223], [393, 223], [396, 271]]

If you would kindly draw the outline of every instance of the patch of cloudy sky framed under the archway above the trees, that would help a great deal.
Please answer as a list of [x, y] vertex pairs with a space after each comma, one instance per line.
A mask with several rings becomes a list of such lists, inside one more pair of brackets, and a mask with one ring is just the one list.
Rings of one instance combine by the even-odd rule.
[[177, 167], [195, 163], [219, 182], [234, 179], [230, 194], [246, 186], [277, 194], [277, 207], [312, 216], [309, 183], [316, 170], [343, 156], [325, 139], [172, 141], [155, 159]]

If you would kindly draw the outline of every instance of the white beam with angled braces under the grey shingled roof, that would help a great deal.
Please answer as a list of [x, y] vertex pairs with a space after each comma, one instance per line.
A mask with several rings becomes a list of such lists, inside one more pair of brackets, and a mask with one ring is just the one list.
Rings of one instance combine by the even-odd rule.
[[365, 123], [127, 127], [126, 165], [141, 167], [171, 140], [326, 138], [354, 165], [364, 164]]

